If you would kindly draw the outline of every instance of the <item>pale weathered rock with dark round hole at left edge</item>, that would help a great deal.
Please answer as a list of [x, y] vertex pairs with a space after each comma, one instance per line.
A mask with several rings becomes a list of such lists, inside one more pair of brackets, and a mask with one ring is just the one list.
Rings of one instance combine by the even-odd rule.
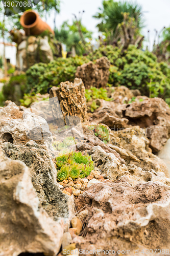
[[7, 101], [0, 109], [0, 143], [25, 144], [29, 140], [37, 143], [52, 142], [47, 122], [31, 112], [19, 111], [14, 102]]

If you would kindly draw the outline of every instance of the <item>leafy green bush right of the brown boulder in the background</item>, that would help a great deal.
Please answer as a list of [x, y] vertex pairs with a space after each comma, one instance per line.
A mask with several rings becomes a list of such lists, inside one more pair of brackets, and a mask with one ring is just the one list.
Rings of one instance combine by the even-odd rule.
[[102, 46], [88, 57], [90, 60], [108, 57], [111, 62], [109, 83], [139, 89], [144, 95], [162, 97], [170, 101], [170, 71], [166, 63], [157, 57], [130, 45], [124, 53], [121, 48]]

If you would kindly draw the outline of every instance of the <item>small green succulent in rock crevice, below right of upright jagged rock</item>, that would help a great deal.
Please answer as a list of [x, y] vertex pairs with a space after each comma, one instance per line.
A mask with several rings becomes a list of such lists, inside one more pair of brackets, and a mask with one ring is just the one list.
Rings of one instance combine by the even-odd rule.
[[109, 129], [105, 124], [99, 123], [96, 125], [90, 125], [89, 130], [93, 130], [96, 137], [101, 139], [103, 142], [107, 143], [109, 138]]

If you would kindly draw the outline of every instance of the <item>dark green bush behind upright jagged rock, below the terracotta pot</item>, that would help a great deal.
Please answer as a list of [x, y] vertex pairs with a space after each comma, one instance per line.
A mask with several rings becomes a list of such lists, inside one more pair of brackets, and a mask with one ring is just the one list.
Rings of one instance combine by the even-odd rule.
[[44, 94], [48, 87], [59, 86], [60, 82], [73, 82], [78, 66], [87, 63], [87, 57], [58, 58], [50, 63], [38, 63], [27, 71], [27, 92]]

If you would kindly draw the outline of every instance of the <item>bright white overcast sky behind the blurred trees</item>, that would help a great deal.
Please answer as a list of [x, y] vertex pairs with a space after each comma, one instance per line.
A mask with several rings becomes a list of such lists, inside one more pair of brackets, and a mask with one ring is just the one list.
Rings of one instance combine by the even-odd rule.
[[[145, 28], [143, 34], [148, 38], [148, 30], [150, 30], [150, 50], [152, 49], [155, 29], [160, 31], [164, 26], [170, 27], [170, 0], [131, 0], [142, 6], [145, 19]], [[56, 24], [59, 28], [65, 20], [74, 18], [72, 13], [79, 15], [80, 11], [85, 11], [82, 23], [88, 30], [93, 32], [93, 37], [98, 38], [98, 19], [92, 16], [98, 12], [98, 8], [102, 7], [102, 0], [61, 0], [61, 12], [57, 15]], [[47, 23], [53, 27], [54, 15], [48, 17]], [[146, 44], [146, 43], [145, 43]]]

